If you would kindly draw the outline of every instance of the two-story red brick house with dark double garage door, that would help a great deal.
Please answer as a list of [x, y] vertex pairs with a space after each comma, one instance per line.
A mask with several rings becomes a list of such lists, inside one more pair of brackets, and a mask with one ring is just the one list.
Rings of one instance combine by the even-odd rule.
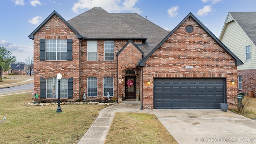
[[68, 21], [52, 12], [34, 40], [34, 90], [40, 99], [135, 100], [142, 108], [236, 105], [242, 65], [192, 13], [171, 32], [136, 13], [92, 8]]

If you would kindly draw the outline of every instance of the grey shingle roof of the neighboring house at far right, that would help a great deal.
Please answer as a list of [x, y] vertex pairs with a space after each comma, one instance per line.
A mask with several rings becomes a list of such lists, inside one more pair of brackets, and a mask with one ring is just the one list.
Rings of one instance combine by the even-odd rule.
[[256, 45], [256, 12], [229, 12]]

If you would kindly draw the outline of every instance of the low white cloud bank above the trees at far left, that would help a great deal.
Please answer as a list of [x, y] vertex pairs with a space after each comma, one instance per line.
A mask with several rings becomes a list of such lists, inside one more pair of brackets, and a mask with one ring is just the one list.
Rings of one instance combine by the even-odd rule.
[[1, 39], [0, 47], [4, 47], [8, 51], [12, 52], [12, 56], [15, 56], [16, 60], [19, 62], [25, 62], [25, 59], [34, 53], [33, 46], [20, 46]]

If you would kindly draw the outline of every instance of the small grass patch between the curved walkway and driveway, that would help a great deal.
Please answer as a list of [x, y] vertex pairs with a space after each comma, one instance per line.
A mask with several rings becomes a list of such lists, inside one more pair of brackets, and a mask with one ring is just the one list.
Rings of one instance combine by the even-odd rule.
[[116, 112], [105, 144], [178, 144], [154, 114]]

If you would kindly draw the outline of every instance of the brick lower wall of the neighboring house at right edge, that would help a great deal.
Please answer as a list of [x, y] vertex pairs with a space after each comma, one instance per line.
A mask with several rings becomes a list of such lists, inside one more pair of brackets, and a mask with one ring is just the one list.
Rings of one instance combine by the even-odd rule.
[[254, 98], [256, 98], [256, 69], [237, 70], [237, 75], [242, 76], [242, 90], [238, 91], [246, 93], [245, 96], [249, 96], [249, 92], [252, 91]]

